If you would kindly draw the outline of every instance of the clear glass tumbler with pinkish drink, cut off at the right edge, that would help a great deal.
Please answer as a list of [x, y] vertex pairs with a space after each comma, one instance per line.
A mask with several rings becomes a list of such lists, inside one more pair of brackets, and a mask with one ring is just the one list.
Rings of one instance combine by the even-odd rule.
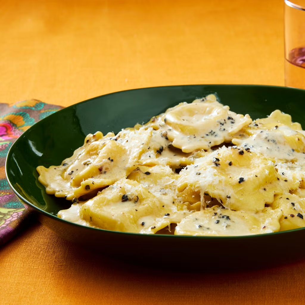
[[285, 2], [285, 86], [305, 89], [305, 0]]

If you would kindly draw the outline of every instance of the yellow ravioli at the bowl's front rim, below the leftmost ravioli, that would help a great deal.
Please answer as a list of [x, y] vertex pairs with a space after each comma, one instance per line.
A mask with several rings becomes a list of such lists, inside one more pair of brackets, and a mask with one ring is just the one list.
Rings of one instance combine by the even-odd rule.
[[81, 206], [80, 216], [99, 228], [155, 233], [180, 221], [188, 211], [160, 201], [142, 184], [121, 179]]

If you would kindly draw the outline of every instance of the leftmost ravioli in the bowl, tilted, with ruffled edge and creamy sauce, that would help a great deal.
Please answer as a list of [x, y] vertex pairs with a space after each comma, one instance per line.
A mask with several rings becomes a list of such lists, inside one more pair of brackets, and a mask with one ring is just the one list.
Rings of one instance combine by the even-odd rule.
[[88, 135], [84, 145], [61, 166], [38, 167], [39, 181], [48, 194], [78, 201], [127, 177], [152, 136], [152, 129], [122, 130], [117, 135]]

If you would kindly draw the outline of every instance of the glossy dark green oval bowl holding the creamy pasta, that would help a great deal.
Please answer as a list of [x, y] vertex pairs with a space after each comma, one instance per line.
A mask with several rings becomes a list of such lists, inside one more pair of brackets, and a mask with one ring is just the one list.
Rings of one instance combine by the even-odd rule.
[[6, 176], [20, 201], [42, 224], [87, 249], [122, 260], [176, 270], [238, 270], [305, 258], [305, 228], [241, 237], [142, 235], [84, 227], [56, 217], [70, 206], [47, 195], [36, 167], [60, 164], [89, 133], [117, 133], [179, 102], [216, 93], [231, 110], [253, 118], [280, 109], [305, 126], [305, 90], [257, 85], [186, 85], [116, 92], [84, 101], [41, 120], [12, 145]]

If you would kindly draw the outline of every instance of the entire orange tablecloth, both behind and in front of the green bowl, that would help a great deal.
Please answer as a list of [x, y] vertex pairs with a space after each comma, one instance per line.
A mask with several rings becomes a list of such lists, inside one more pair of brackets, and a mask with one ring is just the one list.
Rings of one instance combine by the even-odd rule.
[[[0, 11], [3, 103], [69, 106], [159, 85], [284, 85], [282, 0], [2, 0]], [[150, 270], [80, 249], [35, 220], [0, 257], [1, 305], [286, 305], [305, 297], [305, 262], [226, 274]]]

